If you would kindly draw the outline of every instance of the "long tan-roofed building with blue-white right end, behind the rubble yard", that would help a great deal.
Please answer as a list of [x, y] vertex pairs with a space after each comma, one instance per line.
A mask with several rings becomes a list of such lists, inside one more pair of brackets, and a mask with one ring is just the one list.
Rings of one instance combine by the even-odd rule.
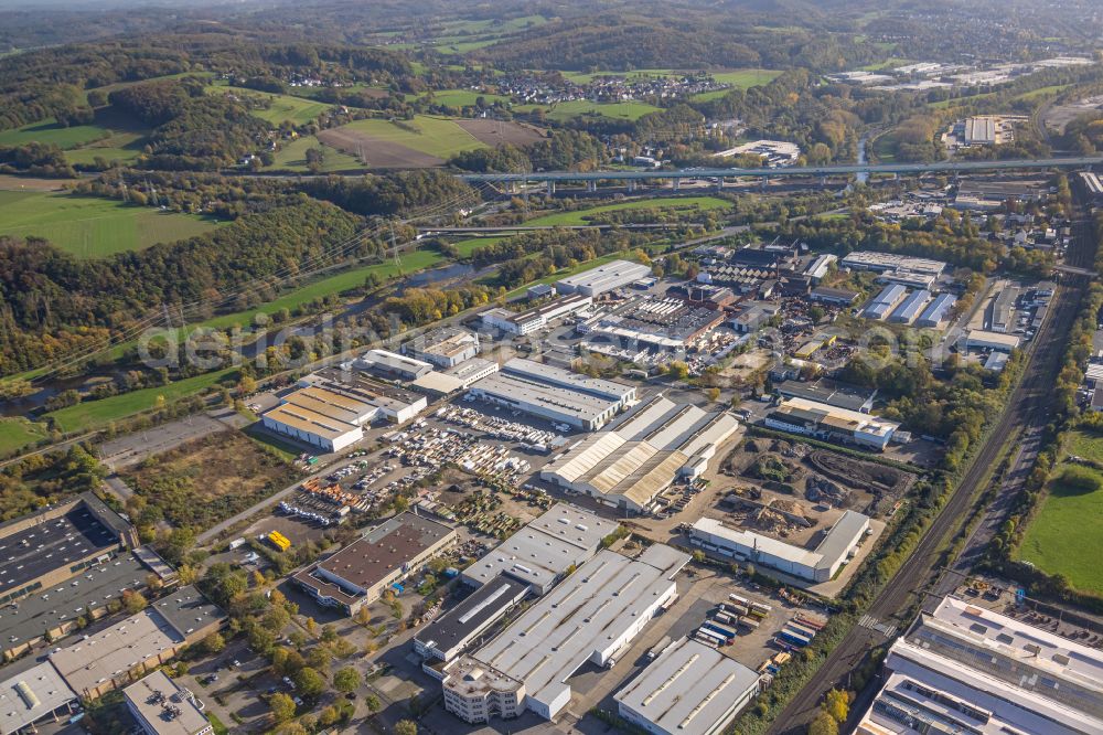
[[805, 398], [782, 401], [767, 414], [763, 424], [780, 432], [856, 444], [878, 451], [885, 451], [900, 428], [897, 422]]

